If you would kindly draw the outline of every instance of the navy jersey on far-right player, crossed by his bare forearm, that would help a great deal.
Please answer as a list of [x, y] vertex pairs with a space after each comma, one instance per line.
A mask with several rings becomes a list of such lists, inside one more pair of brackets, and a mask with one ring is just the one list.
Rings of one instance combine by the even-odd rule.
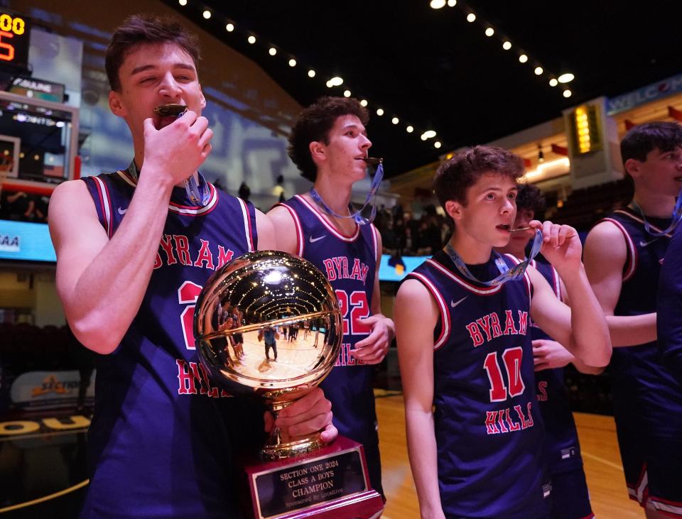
[[[670, 236], [655, 238], [644, 230], [641, 215], [629, 207], [618, 209], [602, 222], [622, 232], [627, 259], [615, 315], [656, 312], [661, 263]], [[654, 230], [666, 229], [670, 219], [647, 218]], [[618, 427], [677, 436], [682, 431], [680, 388], [664, 366], [656, 342], [614, 348], [610, 368]]]

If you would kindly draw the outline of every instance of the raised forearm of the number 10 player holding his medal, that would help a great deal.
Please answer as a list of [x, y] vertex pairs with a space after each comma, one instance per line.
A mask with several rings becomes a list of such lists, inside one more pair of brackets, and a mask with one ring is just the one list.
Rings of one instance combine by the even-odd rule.
[[559, 272], [568, 297], [570, 312], [571, 353], [588, 366], [606, 366], [611, 359], [611, 339], [602, 307], [590, 288], [585, 268]]

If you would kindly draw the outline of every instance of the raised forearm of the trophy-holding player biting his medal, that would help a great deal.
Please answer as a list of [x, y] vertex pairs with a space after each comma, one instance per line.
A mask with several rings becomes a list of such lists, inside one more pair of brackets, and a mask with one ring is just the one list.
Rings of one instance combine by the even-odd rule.
[[126, 217], [78, 278], [65, 302], [76, 337], [90, 349], [116, 349], [139, 310], [163, 226], [170, 190], [141, 177]]

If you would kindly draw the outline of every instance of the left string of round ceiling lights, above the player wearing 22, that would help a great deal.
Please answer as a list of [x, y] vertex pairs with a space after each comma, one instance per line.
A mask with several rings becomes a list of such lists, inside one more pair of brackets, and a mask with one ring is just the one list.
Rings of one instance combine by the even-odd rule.
[[[178, 0], [178, 4], [180, 4], [180, 6], [185, 7], [188, 5], [189, 1], [190, 0]], [[209, 20], [210, 18], [212, 18], [214, 16], [214, 13], [210, 9], [208, 9], [207, 7], [202, 6], [202, 4], [197, 3], [197, 4], [195, 4], [195, 6], [197, 9], [202, 11], [202, 16], [205, 20]], [[267, 49], [268, 54], [271, 55], [273, 58], [276, 58], [278, 55], [281, 55], [284, 57], [285, 60], [288, 59], [287, 62], [288, 62], [289, 67], [292, 67], [292, 68], [303, 67], [303, 65], [301, 63], [299, 63], [298, 60], [296, 60], [296, 56], [292, 55], [291, 53], [287, 53], [287, 52], [281, 50], [281, 48], [279, 48], [277, 45], [274, 45], [273, 43], [269, 43], [266, 41], [260, 41], [259, 38], [256, 38], [256, 34], [254, 34], [252, 31], [237, 28], [237, 24], [234, 23], [233, 20], [229, 20], [226, 18], [223, 21], [225, 24], [224, 28], [225, 28], [225, 31], [227, 33], [232, 33], [235, 35], [244, 35], [244, 36], [246, 36], [247, 42], [251, 45], [256, 45], [256, 43], [263, 45]], [[313, 67], [304, 67], [304, 68], [308, 69], [307, 74], [311, 80], [318, 76], [318, 72], [315, 70], [315, 68], [313, 68]], [[325, 82], [325, 84], [326, 84], [327, 88], [335, 89], [335, 88], [339, 88], [339, 87], [344, 86], [344, 81], [343, 81], [342, 77], [334, 76], [334, 77], [330, 77]], [[344, 97], [351, 97], [352, 92], [347, 85], [345, 85], [345, 88], [342, 92], [342, 95]], [[369, 106], [369, 101], [367, 101], [367, 99], [362, 98], [362, 99], [360, 99], [360, 104], [362, 104], [362, 106], [364, 106], [364, 107], [367, 107], [367, 106]], [[379, 104], [377, 104], [377, 108], [374, 110], [374, 113], [376, 113], [377, 116], [382, 117], [382, 116], [387, 114], [387, 111], [386, 111], [386, 109], [379, 106]], [[394, 116], [391, 117], [391, 123], [394, 124], [395, 126], [399, 125], [400, 121], [401, 121], [401, 119], [399, 118], [399, 116], [397, 116], [395, 114], [394, 114]], [[407, 133], [414, 133], [415, 130], [416, 130], [415, 127], [411, 124], [407, 124], [405, 126], [405, 131]], [[423, 133], [420, 134], [420, 138], [422, 141], [429, 141], [430, 139], [435, 138], [435, 136], [436, 136], [436, 132], [433, 129], [428, 129], [426, 131], [423, 131]], [[440, 148], [440, 146], [443, 146], [440, 141], [433, 141], [433, 147], [434, 148], [438, 149], [438, 148]]]

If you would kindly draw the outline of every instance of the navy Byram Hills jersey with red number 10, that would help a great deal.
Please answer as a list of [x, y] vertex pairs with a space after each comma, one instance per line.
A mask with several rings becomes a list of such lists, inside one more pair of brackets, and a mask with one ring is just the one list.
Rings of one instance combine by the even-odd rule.
[[[517, 263], [503, 256], [508, 266]], [[491, 260], [470, 266], [499, 274]], [[527, 274], [484, 287], [444, 251], [409, 273], [440, 310], [433, 334], [434, 430], [440, 502], [450, 518], [538, 518], [550, 507], [536, 403]]]

